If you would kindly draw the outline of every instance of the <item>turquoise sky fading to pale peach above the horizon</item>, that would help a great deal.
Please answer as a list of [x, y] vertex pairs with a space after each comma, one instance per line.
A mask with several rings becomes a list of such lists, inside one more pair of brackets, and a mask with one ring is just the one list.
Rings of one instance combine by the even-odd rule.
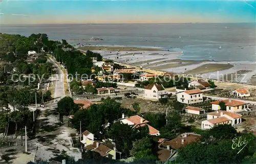
[[0, 24], [255, 22], [255, 1], [0, 0]]

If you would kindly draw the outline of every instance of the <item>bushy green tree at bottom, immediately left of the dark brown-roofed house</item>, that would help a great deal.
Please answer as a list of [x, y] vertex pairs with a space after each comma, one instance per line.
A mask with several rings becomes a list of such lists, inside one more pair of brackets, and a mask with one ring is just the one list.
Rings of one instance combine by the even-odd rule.
[[153, 155], [153, 144], [150, 138], [144, 137], [133, 142], [131, 155], [136, 159], [154, 159], [157, 158]]

